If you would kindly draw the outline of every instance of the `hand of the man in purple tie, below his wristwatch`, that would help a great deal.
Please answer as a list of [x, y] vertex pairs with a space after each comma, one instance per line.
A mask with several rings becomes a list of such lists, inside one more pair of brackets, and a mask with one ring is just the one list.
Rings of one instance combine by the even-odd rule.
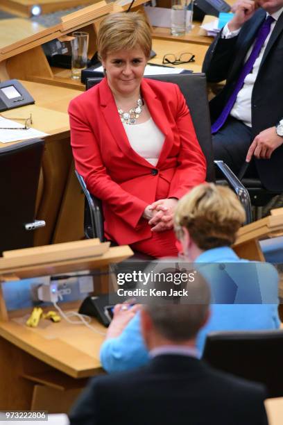
[[253, 155], [258, 159], [270, 159], [273, 151], [275, 151], [277, 147], [280, 147], [282, 143], [283, 138], [277, 135], [275, 126], [266, 128], [266, 130], [261, 131], [261, 133], [255, 137], [250, 145], [246, 157], [247, 163], [250, 162]]

